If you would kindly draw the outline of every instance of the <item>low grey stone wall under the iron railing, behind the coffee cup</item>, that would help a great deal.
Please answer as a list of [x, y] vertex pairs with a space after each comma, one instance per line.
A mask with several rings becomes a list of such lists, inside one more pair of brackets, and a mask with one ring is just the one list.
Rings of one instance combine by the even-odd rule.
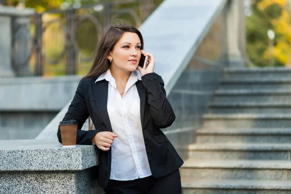
[[34, 139], [74, 96], [80, 76], [0, 79], [0, 140]]

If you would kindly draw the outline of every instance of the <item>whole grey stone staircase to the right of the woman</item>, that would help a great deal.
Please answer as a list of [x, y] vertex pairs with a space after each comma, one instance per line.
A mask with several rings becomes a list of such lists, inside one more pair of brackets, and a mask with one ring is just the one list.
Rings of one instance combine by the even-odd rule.
[[291, 68], [225, 69], [203, 118], [183, 194], [291, 194]]

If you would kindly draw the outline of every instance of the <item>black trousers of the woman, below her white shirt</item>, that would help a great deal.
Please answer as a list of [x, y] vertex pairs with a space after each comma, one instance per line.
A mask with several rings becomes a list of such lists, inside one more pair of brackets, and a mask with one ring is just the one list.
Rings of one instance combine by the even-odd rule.
[[138, 178], [135, 180], [110, 180], [106, 194], [182, 194], [179, 170], [162, 177]]

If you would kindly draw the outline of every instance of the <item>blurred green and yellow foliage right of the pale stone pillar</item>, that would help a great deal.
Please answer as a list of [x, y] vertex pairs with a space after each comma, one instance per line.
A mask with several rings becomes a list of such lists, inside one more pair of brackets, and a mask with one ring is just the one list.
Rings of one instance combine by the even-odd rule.
[[[291, 66], [291, 24], [289, 0], [253, 0], [250, 16], [246, 17], [247, 52], [258, 66]], [[269, 50], [267, 31], [275, 32], [274, 49]]]

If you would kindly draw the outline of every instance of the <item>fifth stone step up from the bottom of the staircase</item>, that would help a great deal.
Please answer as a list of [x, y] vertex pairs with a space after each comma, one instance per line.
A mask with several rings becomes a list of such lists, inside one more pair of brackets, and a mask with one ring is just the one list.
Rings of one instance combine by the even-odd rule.
[[230, 113], [203, 115], [205, 128], [291, 128], [291, 114]]

